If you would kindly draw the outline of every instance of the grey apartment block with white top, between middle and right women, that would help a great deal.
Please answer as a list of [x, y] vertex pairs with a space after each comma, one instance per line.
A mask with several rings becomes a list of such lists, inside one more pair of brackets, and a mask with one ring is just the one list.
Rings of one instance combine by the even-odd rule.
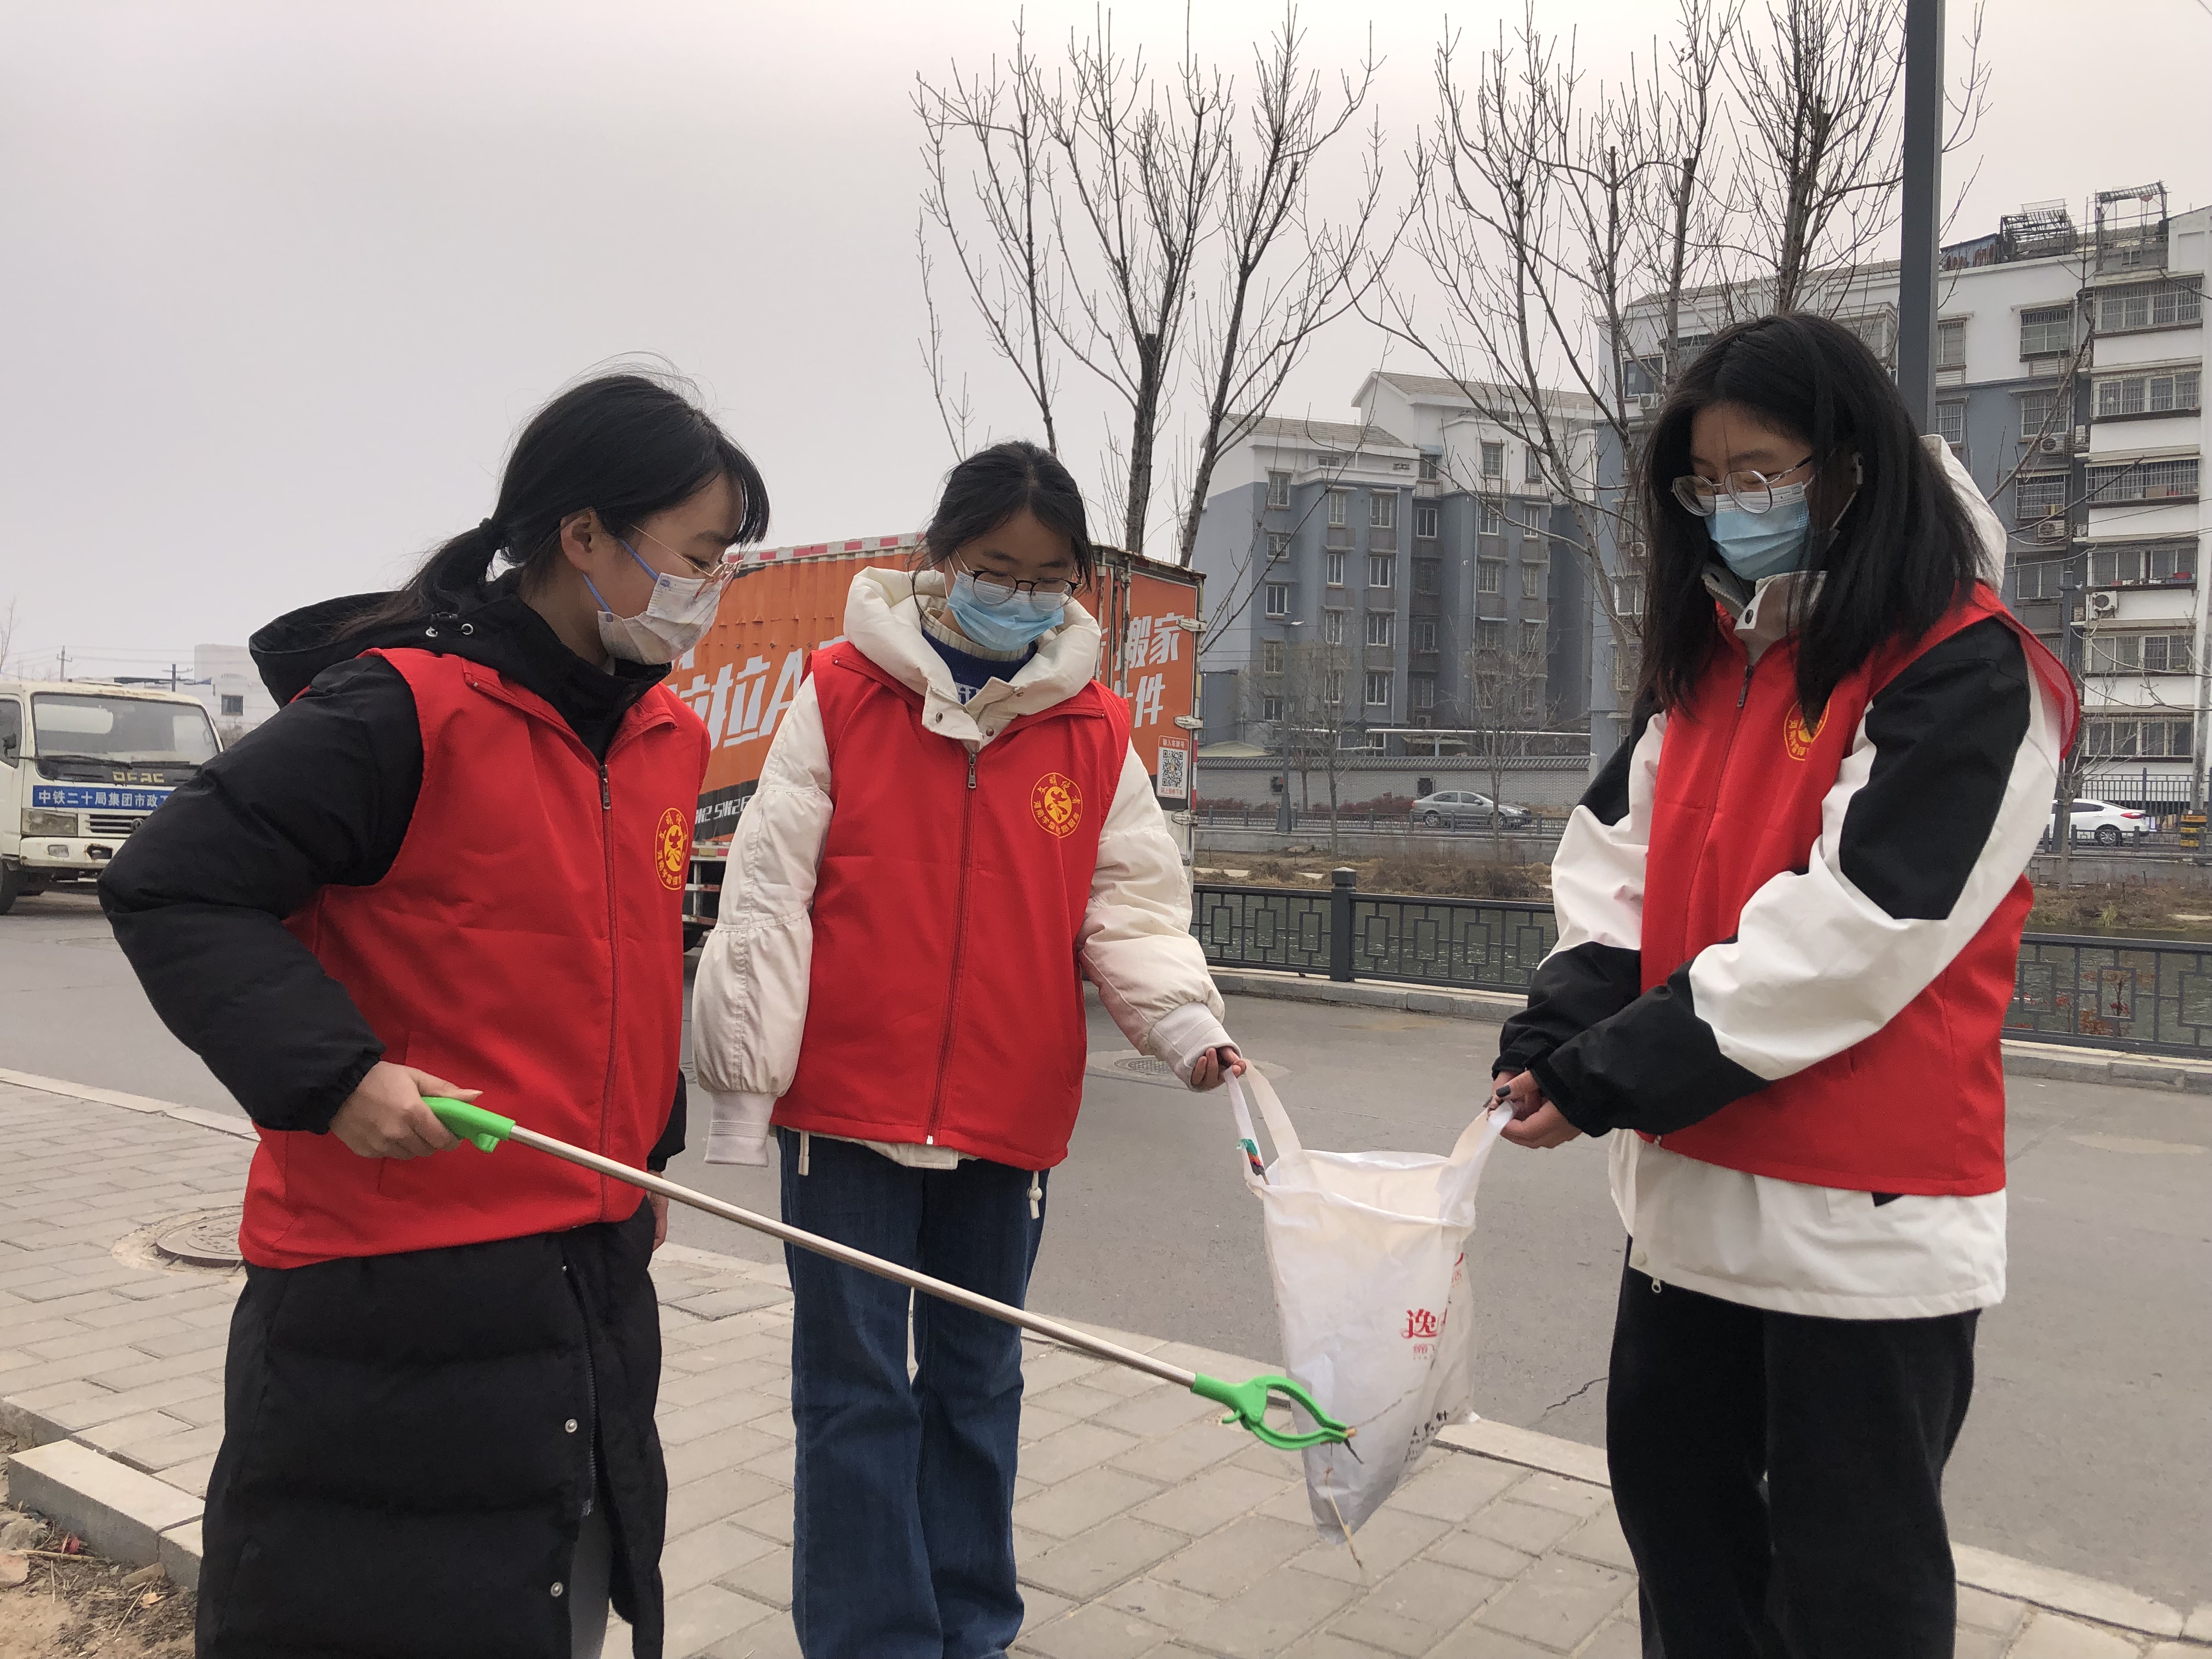
[[[1595, 409], [1553, 396], [1586, 442]], [[1376, 372], [1354, 405], [1356, 422], [1272, 416], [1214, 473], [1194, 555], [1208, 743], [1272, 748], [1296, 719], [1290, 679], [1316, 661], [1345, 748], [1464, 754], [1478, 730], [1579, 730], [1571, 504], [1453, 380]]]

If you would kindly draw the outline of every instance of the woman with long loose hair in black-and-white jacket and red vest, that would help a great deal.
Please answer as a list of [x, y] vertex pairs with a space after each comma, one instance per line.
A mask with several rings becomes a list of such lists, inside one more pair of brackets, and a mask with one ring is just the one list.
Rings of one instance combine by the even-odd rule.
[[2073, 684], [1997, 599], [1995, 515], [1834, 323], [1717, 338], [1637, 509], [1641, 695], [1553, 865], [1509, 1139], [1619, 1130], [1606, 1444], [1646, 1648], [1933, 1659]]

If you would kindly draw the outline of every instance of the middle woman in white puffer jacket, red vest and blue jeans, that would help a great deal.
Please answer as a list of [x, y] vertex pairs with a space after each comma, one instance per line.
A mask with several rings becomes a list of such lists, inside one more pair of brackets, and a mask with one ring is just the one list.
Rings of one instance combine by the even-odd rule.
[[[1084, 1077], [1088, 978], [1192, 1088], [1245, 1062], [1128, 712], [1093, 675], [1082, 495], [969, 456], [927, 568], [863, 571], [739, 818], [692, 1002], [708, 1161], [810, 1232], [1020, 1303]], [[1020, 1334], [787, 1250], [807, 1659], [987, 1659], [1013, 1577]]]

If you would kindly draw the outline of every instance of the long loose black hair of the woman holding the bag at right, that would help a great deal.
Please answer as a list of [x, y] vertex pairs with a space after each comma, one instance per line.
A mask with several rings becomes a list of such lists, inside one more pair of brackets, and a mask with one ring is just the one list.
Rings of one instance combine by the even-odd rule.
[[[1916, 639], [1973, 584], [1978, 538], [1966, 507], [1913, 431], [1911, 411], [1874, 352], [1825, 316], [1761, 316], [1723, 332], [1681, 376], [1644, 447], [1637, 509], [1650, 571], [1644, 608], [1644, 695], [1686, 701], [1719, 644], [1705, 566], [1708, 520], [1674, 500], [1692, 471], [1699, 409], [1739, 403], [1787, 427], [1814, 458], [1818, 595], [1798, 630], [1798, 703], [1827, 706], [1836, 684], [1889, 639]], [[1858, 495], [1849, 500], [1851, 460]], [[1823, 518], [1843, 518], [1823, 535]]]

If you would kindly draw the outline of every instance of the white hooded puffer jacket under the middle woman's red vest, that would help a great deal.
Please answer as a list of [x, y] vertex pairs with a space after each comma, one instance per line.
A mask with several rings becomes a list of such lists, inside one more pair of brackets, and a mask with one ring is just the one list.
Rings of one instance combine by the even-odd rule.
[[[920, 626], [922, 602], [942, 593], [936, 571], [872, 568], [845, 599], [845, 637], [922, 697], [931, 732], [982, 750], [1018, 714], [1066, 701], [1097, 670], [1099, 626], [1071, 599], [1066, 622], [1037, 641], [1011, 684], [993, 679], [962, 703]], [[807, 1024], [814, 876], [827, 836], [830, 748], [810, 679], [737, 823], [721, 914], [699, 951], [692, 1071], [714, 1106], [710, 1164], [768, 1161], [768, 1117], [792, 1084]], [[1186, 1084], [1208, 1048], [1230, 1042], [1221, 993], [1190, 936], [1190, 883], [1135, 752], [1099, 832], [1082, 964], [1121, 1035]]]

